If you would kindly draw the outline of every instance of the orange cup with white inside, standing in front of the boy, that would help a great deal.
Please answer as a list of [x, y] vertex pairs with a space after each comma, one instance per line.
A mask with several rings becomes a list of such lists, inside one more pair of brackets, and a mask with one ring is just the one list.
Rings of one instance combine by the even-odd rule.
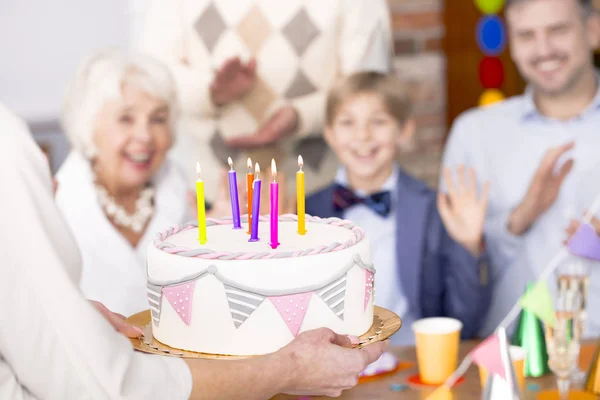
[[425, 318], [412, 324], [423, 383], [441, 385], [452, 375], [458, 363], [462, 326], [454, 318]]

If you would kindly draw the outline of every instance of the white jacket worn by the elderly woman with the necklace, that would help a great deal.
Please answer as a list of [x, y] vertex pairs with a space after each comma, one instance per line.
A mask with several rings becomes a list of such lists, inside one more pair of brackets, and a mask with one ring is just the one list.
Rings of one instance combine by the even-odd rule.
[[130, 316], [148, 309], [146, 249], [154, 235], [188, 222], [183, 173], [169, 160], [154, 177], [154, 215], [136, 248], [106, 218], [97, 198], [90, 163], [72, 152], [57, 173], [56, 202], [81, 251], [80, 287], [88, 299]]

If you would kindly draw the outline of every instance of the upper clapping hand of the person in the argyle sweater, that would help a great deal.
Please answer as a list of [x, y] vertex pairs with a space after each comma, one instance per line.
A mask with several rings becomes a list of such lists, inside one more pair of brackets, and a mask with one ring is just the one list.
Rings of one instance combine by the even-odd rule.
[[210, 97], [217, 107], [224, 106], [246, 95], [256, 80], [256, 61], [242, 64], [231, 58], [221, 66], [210, 85]]

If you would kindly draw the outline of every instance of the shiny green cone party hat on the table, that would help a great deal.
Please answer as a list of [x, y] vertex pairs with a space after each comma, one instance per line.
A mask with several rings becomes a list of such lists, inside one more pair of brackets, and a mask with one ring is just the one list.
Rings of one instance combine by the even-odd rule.
[[[532, 284], [527, 285], [529, 289]], [[548, 349], [542, 321], [528, 309], [521, 311], [512, 344], [527, 351], [525, 358], [525, 376], [538, 378], [550, 372], [548, 368]]]

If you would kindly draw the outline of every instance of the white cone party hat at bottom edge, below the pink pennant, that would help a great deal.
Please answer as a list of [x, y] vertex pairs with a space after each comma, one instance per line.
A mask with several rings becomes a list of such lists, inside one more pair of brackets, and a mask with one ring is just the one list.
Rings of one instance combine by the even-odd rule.
[[502, 327], [498, 328], [497, 337], [504, 367], [504, 379], [500, 374], [490, 373], [483, 389], [482, 400], [519, 400], [521, 389], [508, 351], [506, 330]]

